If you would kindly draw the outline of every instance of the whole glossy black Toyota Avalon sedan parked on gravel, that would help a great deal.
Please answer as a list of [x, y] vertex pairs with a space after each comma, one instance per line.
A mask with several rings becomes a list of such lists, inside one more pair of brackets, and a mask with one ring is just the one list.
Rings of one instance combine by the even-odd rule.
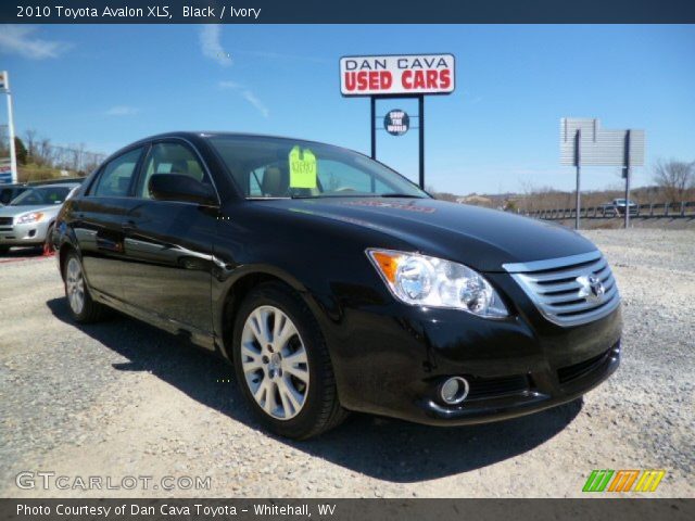
[[337, 147], [143, 139], [83, 183], [56, 232], [75, 320], [113, 307], [186, 334], [233, 363], [286, 436], [350, 410], [510, 418], [572, 401], [619, 364], [620, 297], [590, 241], [437, 201]]

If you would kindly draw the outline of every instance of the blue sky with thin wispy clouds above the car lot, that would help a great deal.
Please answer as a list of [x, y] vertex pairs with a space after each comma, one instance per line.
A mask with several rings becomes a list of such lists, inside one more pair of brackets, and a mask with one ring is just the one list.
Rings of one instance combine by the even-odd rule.
[[[426, 185], [458, 194], [571, 190], [559, 119], [646, 131], [633, 186], [658, 158], [695, 161], [691, 25], [45, 25], [0, 26], [20, 137], [111, 153], [170, 130], [249, 131], [369, 153], [369, 100], [340, 94], [351, 54], [453, 53], [456, 91], [426, 99]], [[7, 122], [4, 100], [1, 123]], [[377, 115], [412, 100], [381, 100]], [[415, 122], [414, 122], [415, 123]], [[377, 122], [377, 157], [413, 180], [417, 130]], [[582, 188], [622, 186], [611, 167]]]

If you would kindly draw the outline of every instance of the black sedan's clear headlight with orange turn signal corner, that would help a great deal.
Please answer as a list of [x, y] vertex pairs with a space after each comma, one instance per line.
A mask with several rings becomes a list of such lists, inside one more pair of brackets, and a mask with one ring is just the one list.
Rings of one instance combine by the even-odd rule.
[[486, 318], [509, 315], [490, 282], [468, 266], [392, 250], [367, 250], [367, 256], [406, 304], [463, 309]]

